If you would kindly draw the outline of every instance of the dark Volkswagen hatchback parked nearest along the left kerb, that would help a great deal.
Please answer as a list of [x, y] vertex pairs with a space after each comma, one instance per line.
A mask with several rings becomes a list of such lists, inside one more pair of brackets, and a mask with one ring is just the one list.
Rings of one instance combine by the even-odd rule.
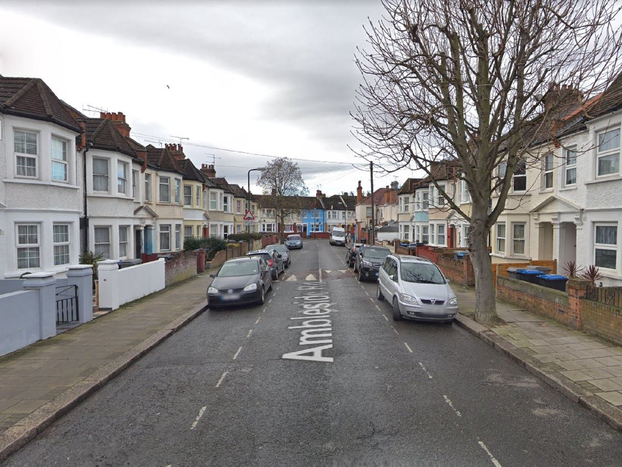
[[246, 303], [262, 304], [272, 290], [270, 267], [261, 257], [234, 258], [225, 262], [207, 289], [210, 308]]

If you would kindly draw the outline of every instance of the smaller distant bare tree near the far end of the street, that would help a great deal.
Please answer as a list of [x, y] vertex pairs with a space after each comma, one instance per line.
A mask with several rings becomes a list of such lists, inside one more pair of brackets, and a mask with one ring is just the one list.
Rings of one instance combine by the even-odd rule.
[[266, 164], [257, 182], [268, 204], [275, 210], [279, 225], [279, 240], [283, 242], [285, 218], [302, 212], [300, 196], [309, 194], [297, 163], [287, 158], [274, 159]]

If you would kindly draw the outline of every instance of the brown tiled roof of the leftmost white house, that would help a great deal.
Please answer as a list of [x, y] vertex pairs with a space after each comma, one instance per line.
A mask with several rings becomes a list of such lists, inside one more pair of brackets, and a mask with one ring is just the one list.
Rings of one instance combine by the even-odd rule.
[[0, 112], [50, 121], [80, 133], [78, 122], [40, 78], [9, 78], [0, 75]]

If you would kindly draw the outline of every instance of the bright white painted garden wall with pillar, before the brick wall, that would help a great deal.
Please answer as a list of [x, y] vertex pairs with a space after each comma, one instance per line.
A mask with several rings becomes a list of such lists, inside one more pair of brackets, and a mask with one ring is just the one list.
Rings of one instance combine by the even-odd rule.
[[165, 286], [164, 258], [119, 270], [114, 260], [98, 265], [100, 308], [117, 309]]

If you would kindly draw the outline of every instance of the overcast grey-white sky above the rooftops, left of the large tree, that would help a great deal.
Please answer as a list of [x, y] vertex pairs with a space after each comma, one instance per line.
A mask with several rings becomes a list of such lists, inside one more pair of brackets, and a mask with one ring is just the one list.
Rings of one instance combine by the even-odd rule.
[[382, 13], [379, 0], [2, 2], [0, 74], [42, 78], [86, 115], [122, 111], [143, 144], [189, 138], [187, 156], [231, 183], [271, 158], [223, 149], [307, 159], [310, 194], [368, 191], [349, 112], [363, 24]]

